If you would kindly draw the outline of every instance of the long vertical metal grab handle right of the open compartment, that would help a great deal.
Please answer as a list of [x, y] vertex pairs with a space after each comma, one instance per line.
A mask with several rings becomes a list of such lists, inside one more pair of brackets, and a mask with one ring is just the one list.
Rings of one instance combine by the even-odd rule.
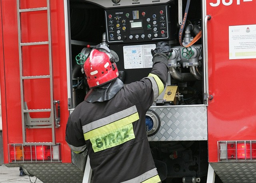
[[[208, 84], [208, 39], [207, 39], [207, 22], [210, 20], [212, 17], [210, 15], [206, 15], [204, 17], [204, 34], [203, 34], [203, 46], [204, 46], [204, 72], [205, 72], [205, 87], [204, 87], [204, 94], [205, 98], [204, 100], [206, 101], [207, 104], [207, 99], [211, 100], [213, 99], [212, 95], [209, 95], [209, 84]], [[206, 99], [207, 98], [207, 99]]]

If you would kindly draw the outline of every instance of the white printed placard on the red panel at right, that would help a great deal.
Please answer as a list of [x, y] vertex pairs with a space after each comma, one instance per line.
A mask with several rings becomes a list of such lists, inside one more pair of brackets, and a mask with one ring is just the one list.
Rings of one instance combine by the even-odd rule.
[[229, 26], [229, 59], [256, 58], [256, 25]]

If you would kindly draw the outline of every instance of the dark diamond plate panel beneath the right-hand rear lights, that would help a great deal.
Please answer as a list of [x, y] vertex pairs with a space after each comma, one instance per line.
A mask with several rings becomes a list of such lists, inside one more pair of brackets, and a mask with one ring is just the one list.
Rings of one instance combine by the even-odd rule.
[[223, 183], [256, 183], [256, 162], [210, 163]]

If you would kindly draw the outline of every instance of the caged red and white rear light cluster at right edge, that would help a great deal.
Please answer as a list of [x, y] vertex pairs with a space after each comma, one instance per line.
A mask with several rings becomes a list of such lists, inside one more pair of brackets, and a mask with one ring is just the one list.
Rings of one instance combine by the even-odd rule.
[[219, 161], [256, 161], [256, 141], [218, 141]]

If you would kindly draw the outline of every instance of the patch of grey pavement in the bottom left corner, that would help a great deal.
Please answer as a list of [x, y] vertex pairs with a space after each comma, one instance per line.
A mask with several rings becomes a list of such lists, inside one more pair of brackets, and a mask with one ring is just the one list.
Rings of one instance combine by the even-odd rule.
[[[36, 177], [30, 177], [31, 182], [34, 183]], [[0, 165], [0, 183], [20, 183], [27, 182], [30, 183], [28, 175], [20, 177], [19, 167], [8, 168], [5, 165]], [[36, 180], [36, 183], [42, 183], [39, 179]]]

